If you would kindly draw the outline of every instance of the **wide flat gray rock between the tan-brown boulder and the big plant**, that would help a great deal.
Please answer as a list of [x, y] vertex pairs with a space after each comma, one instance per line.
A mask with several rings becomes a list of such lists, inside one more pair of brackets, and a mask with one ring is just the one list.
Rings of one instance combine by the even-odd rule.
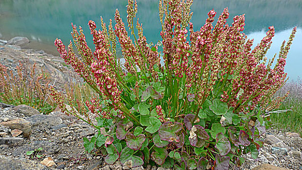
[[62, 124], [62, 119], [49, 115], [33, 115], [29, 118], [26, 118], [26, 120], [30, 121], [33, 126], [46, 125], [47, 127], [52, 127]]

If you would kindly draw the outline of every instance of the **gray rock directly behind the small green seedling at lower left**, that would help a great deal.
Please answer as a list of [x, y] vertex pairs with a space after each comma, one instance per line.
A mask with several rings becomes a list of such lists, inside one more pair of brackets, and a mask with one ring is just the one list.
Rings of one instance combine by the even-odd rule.
[[59, 146], [55, 142], [49, 142], [44, 140], [35, 140], [30, 144], [24, 144], [15, 148], [13, 155], [18, 156], [25, 154], [28, 151], [34, 151], [35, 149], [42, 148], [41, 153], [43, 154], [53, 154], [59, 151]]

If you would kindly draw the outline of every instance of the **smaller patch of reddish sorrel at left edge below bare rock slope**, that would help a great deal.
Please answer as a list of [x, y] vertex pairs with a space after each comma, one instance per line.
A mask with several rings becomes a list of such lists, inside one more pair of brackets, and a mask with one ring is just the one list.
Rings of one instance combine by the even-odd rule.
[[[24, 65], [25, 64], [25, 65]], [[36, 72], [36, 63], [29, 67], [29, 61], [19, 61], [15, 70], [0, 64], [0, 102], [26, 104], [41, 113], [50, 113], [56, 103], [50, 96], [50, 79], [43, 70]]]

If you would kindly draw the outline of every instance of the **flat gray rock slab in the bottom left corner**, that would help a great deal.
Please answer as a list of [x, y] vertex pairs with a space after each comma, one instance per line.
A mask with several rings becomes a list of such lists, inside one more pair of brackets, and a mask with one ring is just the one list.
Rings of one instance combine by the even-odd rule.
[[25, 158], [0, 155], [0, 170], [54, 170]]

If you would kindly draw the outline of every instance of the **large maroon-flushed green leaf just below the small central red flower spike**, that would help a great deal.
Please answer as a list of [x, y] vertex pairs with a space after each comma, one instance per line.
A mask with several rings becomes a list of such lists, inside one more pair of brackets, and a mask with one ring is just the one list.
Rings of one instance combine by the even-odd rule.
[[182, 129], [182, 124], [178, 122], [172, 123], [167, 121], [160, 126], [159, 134], [160, 139], [169, 142], [179, 142], [179, 137], [176, 135]]

